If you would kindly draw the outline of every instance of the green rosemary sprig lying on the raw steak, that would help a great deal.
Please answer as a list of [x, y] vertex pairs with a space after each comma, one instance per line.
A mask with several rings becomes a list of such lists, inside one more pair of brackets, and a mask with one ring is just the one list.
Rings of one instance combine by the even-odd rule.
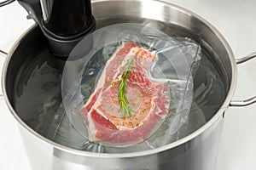
[[127, 89], [127, 79], [131, 75], [131, 63], [133, 61], [133, 58], [131, 58], [128, 61], [128, 64], [126, 66], [125, 71], [123, 72], [121, 76], [121, 80], [119, 83], [119, 90], [118, 90], [118, 97], [119, 97], [119, 103], [120, 103], [120, 111], [124, 113], [124, 116], [131, 116], [131, 106], [129, 105], [129, 101], [126, 97], [126, 89]]

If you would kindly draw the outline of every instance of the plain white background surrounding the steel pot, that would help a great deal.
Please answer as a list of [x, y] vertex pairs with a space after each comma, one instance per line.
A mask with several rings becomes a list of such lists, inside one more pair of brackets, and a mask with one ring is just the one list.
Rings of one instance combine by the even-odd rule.
[[[256, 51], [256, 1], [170, 0], [168, 2], [188, 8], [212, 23], [230, 43], [236, 58]], [[0, 49], [9, 52], [15, 40], [32, 24], [32, 20], [26, 20], [26, 11], [18, 3], [0, 8]], [[3, 57], [4, 55], [0, 54], [1, 67]], [[255, 84], [256, 59], [253, 59], [238, 66], [237, 88], [233, 99], [247, 99], [256, 95]], [[256, 169], [255, 112], [256, 104], [243, 108], [230, 107], [226, 111], [217, 170]], [[4, 101], [0, 101], [0, 136], [0, 169], [30, 170], [15, 119], [9, 113]]]

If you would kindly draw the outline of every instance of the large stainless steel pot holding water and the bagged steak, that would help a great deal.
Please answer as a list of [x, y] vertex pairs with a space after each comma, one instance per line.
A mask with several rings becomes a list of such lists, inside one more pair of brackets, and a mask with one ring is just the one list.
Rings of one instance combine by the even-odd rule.
[[[224, 123], [224, 111], [230, 106], [250, 105], [256, 97], [244, 101], [231, 101], [236, 88], [236, 64], [255, 57], [249, 54], [236, 60], [224, 37], [206, 20], [192, 12], [157, 1], [93, 1], [92, 10], [96, 20], [111, 18], [101, 22], [108, 26], [130, 16], [141, 20], [160, 21], [175, 26], [177, 35], [191, 37], [210, 53], [212, 63], [221, 72], [226, 93], [224, 102], [207, 123], [183, 139], [160, 148], [132, 153], [92, 153], [75, 150], [34, 131], [20, 118], [14, 107], [15, 77], [20, 67], [32, 59], [32, 53], [47, 43], [37, 26], [32, 26], [20, 37], [11, 49], [3, 67], [3, 97], [9, 110], [20, 127], [26, 153], [32, 169], [173, 169], [173, 170], [213, 170], [218, 155], [218, 144]], [[160, 25], [155, 25], [159, 26]]]

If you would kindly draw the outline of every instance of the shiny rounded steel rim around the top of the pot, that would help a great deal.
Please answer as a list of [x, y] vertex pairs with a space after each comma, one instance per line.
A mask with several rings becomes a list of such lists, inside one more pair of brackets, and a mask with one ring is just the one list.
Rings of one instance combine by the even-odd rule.
[[[119, 1], [119, 0], [113, 0], [114, 1]], [[127, 1], [127, 0], [126, 0]], [[129, 1], [134, 1], [134, 0], [128, 0]], [[137, 2], [142, 2], [143, 0], [136, 0]], [[203, 19], [201, 16], [199, 16], [198, 14], [195, 14], [193, 12], [191, 12], [189, 9], [186, 8], [182, 8], [179, 7], [173, 3], [166, 3], [163, 1], [157, 1], [157, 0], [151, 0], [153, 2], [156, 3], [163, 3], [166, 4], [167, 6], [171, 7], [171, 8], [175, 8], [176, 10], [179, 10], [180, 12], [183, 12], [185, 14], [189, 14], [191, 17], [195, 17], [197, 20], [201, 20], [202, 23], [204, 23], [206, 26], [208, 26], [213, 33], [215, 33], [215, 35], [218, 37], [218, 39], [223, 42], [224, 44], [224, 48], [226, 48], [229, 56], [230, 56], [230, 65], [231, 65], [231, 81], [230, 81], [230, 89], [229, 92], [226, 96], [226, 99], [224, 100], [223, 105], [220, 107], [220, 109], [217, 111], [217, 113], [212, 116], [212, 118], [206, 123], [204, 124], [202, 127], [198, 128], [194, 133], [190, 133], [189, 135], [187, 135], [186, 137], [184, 137], [183, 139], [179, 139], [175, 142], [172, 142], [171, 144], [166, 144], [164, 146], [161, 146], [159, 148], [156, 149], [152, 149], [152, 150], [143, 150], [143, 151], [138, 151], [138, 152], [132, 152], [132, 153], [94, 153], [94, 152], [89, 152], [89, 151], [84, 151], [84, 150], [76, 150], [73, 148], [69, 148], [67, 146], [61, 145], [61, 144], [57, 144], [47, 138], [45, 138], [44, 136], [42, 136], [41, 134], [37, 133], [36, 131], [34, 131], [31, 127], [27, 126], [25, 122], [23, 122], [20, 119], [20, 116], [18, 116], [14, 110], [14, 108], [12, 107], [12, 105], [9, 102], [7, 93], [6, 93], [6, 87], [5, 87], [5, 82], [6, 82], [6, 75], [7, 75], [7, 70], [9, 67], [9, 62], [10, 59], [12, 58], [12, 55], [15, 52], [15, 49], [18, 48], [20, 42], [26, 37], [26, 34], [28, 34], [30, 31], [32, 31], [33, 29], [35, 29], [37, 27], [37, 24], [32, 25], [30, 28], [28, 28], [15, 42], [15, 44], [13, 45], [13, 47], [10, 49], [10, 52], [7, 56], [7, 59], [5, 59], [5, 62], [3, 64], [3, 73], [2, 73], [2, 90], [3, 90], [3, 98], [6, 102], [6, 104], [9, 107], [9, 111], [12, 113], [12, 115], [15, 117], [16, 121], [20, 123], [20, 125], [22, 127], [24, 127], [29, 133], [31, 133], [32, 135], [35, 135], [35, 137], [37, 137], [38, 139], [44, 141], [47, 144], [51, 144], [53, 145], [56, 149], [59, 150], [63, 150], [66, 151], [70, 154], [74, 154], [74, 155], [79, 155], [79, 156], [91, 156], [91, 157], [105, 157], [105, 158], [128, 158], [128, 157], [136, 157], [136, 156], [146, 156], [146, 155], [153, 155], [153, 154], [157, 154], [159, 152], [165, 151], [165, 150], [170, 150], [172, 148], [175, 148], [181, 144], [184, 144], [186, 142], [188, 142], [191, 139], [195, 139], [195, 137], [201, 135], [201, 133], [203, 133], [204, 131], [207, 130], [208, 127], [211, 127], [212, 124], [214, 122], [216, 122], [219, 118], [219, 116], [223, 116], [224, 111], [229, 107], [230, 105], [230, 101], [232, 99], [233, 94], [235, 93], [235, 89], [236, 89], [236, 80], [237, 80], [237, 69], [236, 69], [236, 59], [235, 56], [230, 48], [229, 43], [225, 40], [225, 38], [223, 37], [222, 34], [220, 34], [220, 32], [214, 27], [212, 26], [212, 24], [210, 24], [207, 20]], [[92, 3], [99, 3], [99, 2], [108, 2], [108, 0], [92, 0]]]

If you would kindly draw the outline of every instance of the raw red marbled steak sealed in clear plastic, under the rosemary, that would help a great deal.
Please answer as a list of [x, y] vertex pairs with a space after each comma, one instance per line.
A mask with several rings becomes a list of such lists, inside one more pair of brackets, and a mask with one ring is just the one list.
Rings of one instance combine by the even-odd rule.
[[[170, 89], [150, 78], [157, 56], [134, 42], [124, 42], [108, 59], [95, 91], [81, 110], [89, 139], [104, 144], [135, 144], [147, 139], [168, 115]], [[120, 109], [119, 86], [128, 71], [125, 96], [131, 115]]]

